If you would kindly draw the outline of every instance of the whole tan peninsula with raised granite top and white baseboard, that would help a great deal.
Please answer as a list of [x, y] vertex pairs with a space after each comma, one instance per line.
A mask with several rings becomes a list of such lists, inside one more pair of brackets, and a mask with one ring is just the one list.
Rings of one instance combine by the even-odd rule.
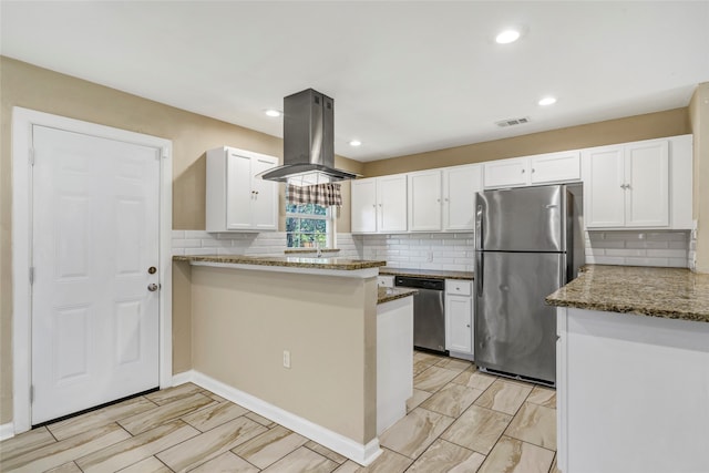
[[[413, 292], [379, 294], [384, 261], [173, 259], [176, 280], [189, 287], [192, 381], [360, 464], [377, 457], [378, 425], [405, 414], [412, 389], [412, 329], [408, 336], [404, 322], [412, 327]], [[387, 359], [408, 363], [398, 390], [380, 381], [393, 374], [379, 358], [380, 340], [390, 341]]]

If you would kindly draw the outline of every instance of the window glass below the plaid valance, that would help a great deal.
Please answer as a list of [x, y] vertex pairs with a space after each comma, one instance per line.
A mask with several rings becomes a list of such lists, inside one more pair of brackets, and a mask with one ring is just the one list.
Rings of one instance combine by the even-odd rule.
[[286, 240], [288, 248], [332, 248], [335, 235], [333, 206], [286, 204]]

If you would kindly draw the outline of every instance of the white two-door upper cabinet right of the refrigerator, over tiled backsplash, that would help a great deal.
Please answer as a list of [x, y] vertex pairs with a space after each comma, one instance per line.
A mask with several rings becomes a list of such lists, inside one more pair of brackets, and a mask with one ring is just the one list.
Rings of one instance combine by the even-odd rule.
[[586, 150], [586, 228], [691, 228], [691, 135]]

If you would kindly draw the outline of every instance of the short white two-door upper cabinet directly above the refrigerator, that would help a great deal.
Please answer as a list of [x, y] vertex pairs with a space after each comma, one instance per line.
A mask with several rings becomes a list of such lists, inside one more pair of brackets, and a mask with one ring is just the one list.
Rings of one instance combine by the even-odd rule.
[[580, 179], [580, 152], [566, 151], [484, 163], [485, 188], [522, 187]]

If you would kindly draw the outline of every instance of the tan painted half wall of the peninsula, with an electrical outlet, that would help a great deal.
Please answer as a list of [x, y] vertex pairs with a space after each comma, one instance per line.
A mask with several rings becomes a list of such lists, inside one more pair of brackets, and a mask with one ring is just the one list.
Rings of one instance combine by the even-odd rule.
[[374, 278], [195, 266], [192, 282], [195, 370], [362, 444], [374, 439]]

